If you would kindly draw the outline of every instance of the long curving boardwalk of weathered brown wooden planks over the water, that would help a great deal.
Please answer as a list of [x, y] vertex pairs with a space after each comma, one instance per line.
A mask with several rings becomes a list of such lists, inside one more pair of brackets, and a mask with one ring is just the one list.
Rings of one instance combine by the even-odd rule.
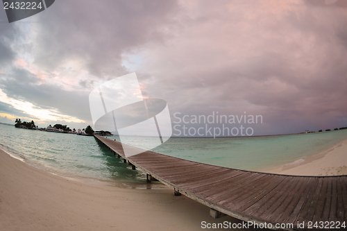
[[[95, 136], [124, 156], [121, 143]], [[182, 160], [152, 151], [128, 158], [164, 185], [229, 216], [256, 223], [298, 223], [347, 220], [347, 176], [285, 176], [229, 169]], [[135, 167], [134, 167], [135, 168]], [[336, 226], [336, 225], [335, 225]], [[312, 230], [312, 229], [310, 229]], [[344, 230], [344, 228], [342, 228]]]

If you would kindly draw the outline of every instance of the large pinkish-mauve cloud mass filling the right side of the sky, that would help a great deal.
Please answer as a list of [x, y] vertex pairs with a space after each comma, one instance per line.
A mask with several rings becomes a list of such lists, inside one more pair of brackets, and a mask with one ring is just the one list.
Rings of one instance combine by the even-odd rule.
[[266, 9], [243, 3], [230, 6], [231, 12], [198, 3], [208, 12], [195, 16], [185, 29], [189, 35], [179, 31], [182, 39], [174, 45], [180, 46], [154, 54], [163, 66], [153, 74], [160, 88], [146, 90], [174, 111], [247, 111], [293, 132], [346, 116], [347, 17], [339, 2]]

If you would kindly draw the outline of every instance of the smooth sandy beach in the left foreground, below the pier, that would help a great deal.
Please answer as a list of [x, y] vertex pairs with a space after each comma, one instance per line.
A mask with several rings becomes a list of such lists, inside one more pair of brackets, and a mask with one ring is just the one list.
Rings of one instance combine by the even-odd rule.
[[0, 230], [202, 230], [210, 209], [172, 189], [122, 189], [78, 182], [0, 150]]

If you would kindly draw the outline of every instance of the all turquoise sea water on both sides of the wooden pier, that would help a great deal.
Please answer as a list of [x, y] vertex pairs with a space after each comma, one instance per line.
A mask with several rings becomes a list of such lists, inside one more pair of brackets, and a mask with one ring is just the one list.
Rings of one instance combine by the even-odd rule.
[[[63, 176], [146, 182], [94, 137], [26, 130], [0, 123], [0, 148]], [[115, 137], [109, 137], [115, 139]], [[122, 142], [141, 148], [151, 137], [127, 137]], [[153, 151], [186, 160], [262, 171], [325, 151], [347, 139], [347, 130], [302, 135], [229, 138], [170, 138]]]

